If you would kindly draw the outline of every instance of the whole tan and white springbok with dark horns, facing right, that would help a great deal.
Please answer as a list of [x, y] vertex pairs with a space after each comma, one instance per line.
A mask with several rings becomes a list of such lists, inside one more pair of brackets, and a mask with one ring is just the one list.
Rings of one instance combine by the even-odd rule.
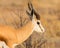
[[28, 3], [28, 8], [30, 12], [26, 11], [26, 13], [31, 20], [25, 26], [15, 29], [11, 26], [0, 25], [0, 45], [6, 44], [4, 48], [14, 48], [17, 44], [25, 41], [33, 31], [44, 32], [40, 15], [34, 10], [31, 3]]

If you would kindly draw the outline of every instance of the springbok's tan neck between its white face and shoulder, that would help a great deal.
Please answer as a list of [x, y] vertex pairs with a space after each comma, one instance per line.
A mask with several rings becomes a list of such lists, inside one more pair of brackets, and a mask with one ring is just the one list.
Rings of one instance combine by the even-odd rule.
[[22, 43], [25, 41], [33, 32], [34, 25], [32, 24], [32, 21], [29, 21], [25, 26], [19, 28], [17, 30], [17, 38], [18, 42]]

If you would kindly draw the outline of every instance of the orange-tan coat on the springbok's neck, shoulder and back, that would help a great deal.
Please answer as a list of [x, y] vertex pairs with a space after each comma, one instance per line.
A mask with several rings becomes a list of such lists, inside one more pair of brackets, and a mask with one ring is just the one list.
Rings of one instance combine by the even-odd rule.
[[[34, 25], [29, 21], [25, 26], [15, 29], [11, 26], [0, 26], [0, 40], [5, 41], [6, 44], [12, 48], [14, 44], [20, 44], [25, 41], [31, 34]], [[1, 37], [4, 39], [1, 39]]]

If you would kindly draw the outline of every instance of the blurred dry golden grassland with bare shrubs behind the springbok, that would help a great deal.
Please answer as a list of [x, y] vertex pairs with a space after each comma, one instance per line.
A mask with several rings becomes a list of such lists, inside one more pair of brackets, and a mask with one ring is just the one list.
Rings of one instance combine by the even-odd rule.
[[0, 24], [24, 26], [29, 22], [26, 14], [29, 1], [40, 14], [45, 32], [33, 32], [16, 48], [60, 48], [60, 0], [0, 0]]

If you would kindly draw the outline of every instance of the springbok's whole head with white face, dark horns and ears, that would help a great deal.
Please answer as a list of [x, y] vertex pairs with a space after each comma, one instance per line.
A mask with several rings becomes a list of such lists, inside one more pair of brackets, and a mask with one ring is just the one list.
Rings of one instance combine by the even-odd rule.
[[34, 24], [33, 31], [36, 32], [44, 32], [45, 29], [43, 28], [41, 21], [40, 21], [40, 15], [34, 10], [31, 3], [28, 3], [29, 11], [26, 11], [28, 15], [30, 15], [30, 19], [32, 20], [32, 23]]

